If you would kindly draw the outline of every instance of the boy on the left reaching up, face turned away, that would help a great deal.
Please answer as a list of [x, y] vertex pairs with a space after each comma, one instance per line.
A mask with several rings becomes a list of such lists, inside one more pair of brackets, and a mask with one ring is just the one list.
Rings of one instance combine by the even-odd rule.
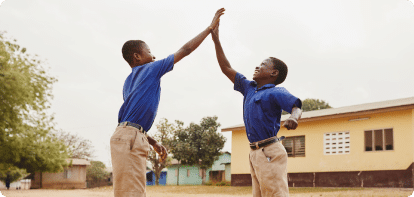
[[160, 155], [167, 150], [146, 134], [155, 119], [160, 99], [160, 79], [174, 64], [193, 52], [210, 34], [223, 15], [219, 9], [210, 26], [181, 49], [165, 59], [154, 61], [150, 48], [140, 40], [129, 40], [122, 47], [122, 55], [132, 68], [123, 88], [124, 103], [118, 114], [118, 127], [111, 137], [111, 157], [115, 197], [144, 197], [146, 158], [149, 144]]

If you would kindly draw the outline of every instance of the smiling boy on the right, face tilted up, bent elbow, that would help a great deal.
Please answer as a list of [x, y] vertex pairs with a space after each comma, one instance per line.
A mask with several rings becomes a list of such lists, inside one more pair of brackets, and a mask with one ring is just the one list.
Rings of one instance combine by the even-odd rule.
[[256, 67], [249, 81], [236, 72], [221, 47], [218, 26], [212, 30], [217, 60], [221, 71], [234, 83], [234, 89], [244, 96], [243, 120], [250, 141], [250, 172], [253, 196], [289, 196], [287, 182], [287, 154], [277, 138], [282, 109], [291, 116], [285, 121], [288, 130], [296, 129], [302, 114], [302, 102], [291, 95], [281, 84], [287, 75], [287, 66], [270, 57]]

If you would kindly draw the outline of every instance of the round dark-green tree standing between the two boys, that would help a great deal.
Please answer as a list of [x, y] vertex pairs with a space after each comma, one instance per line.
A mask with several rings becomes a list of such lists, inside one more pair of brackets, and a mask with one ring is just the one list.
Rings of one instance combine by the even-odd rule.
[[205, 117], [200, 124], [191, 123], [187, 128], [180, 128], [174, 133], [172, 142], [173, 157], [187, 165], [199, 165], [202, 169], [203, 182], [205, 170], [210, 168], [220, 156], [226, 139], [217, 132], [220, 123], [217, 116]]

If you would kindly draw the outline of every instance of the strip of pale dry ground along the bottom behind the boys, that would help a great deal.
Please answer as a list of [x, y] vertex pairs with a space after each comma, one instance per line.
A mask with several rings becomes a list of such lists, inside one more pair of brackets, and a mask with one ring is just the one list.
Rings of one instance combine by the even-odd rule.
[[[408, 197], [413, 189], [398, 188], [289, 188], [291, 197]], [[5, 197], [113, 197], [112, 187], [77, 190], [9, 190]], [[1, 195], [0, 195], [1, 196]], [[147, 197], [235, 197], [252, 196], [251, 187], [148, 186]]]

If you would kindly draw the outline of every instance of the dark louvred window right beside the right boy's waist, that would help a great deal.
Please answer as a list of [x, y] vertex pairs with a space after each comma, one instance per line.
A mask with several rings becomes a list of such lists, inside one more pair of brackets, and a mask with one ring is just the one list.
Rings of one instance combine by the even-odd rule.
[[305, 136], [286, 137], [282, 144], [285, 146], [288, 157], [305, 156]]

